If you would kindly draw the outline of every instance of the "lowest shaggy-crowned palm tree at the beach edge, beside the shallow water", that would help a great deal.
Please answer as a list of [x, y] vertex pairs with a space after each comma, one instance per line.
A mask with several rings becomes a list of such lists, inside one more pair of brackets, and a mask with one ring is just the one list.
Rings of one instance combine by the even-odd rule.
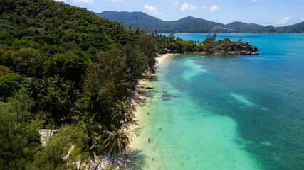
[[109, 156], [113, 156], [112, 164], [118, 154], [125, 154], [127, 145], [130, 144], [130, 131], [120, 130], [115, 128], [115, 125], [110, 125], [111, 131], [103, 130], [106, 138], [103, 146], [109, 152]]

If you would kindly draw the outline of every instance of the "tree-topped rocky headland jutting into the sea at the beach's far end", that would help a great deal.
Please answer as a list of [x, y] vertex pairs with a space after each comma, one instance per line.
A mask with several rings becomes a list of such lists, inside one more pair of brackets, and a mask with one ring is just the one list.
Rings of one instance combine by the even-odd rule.
[[238, 41], [225, 38], [216, 41], [217, 34], [210, 33], [206, 36], [203, 42], [182, 40], [177, 37], [174, 39], [171, 34], [168, 39], [173, 40], [167, 42], [167, 48], [162, 53], [180, 53], [180, 54], [198, 54], [198, 55], [259, 55], [258, 48], [249, 45], [248, 42], [242, 42], [240, 38]]

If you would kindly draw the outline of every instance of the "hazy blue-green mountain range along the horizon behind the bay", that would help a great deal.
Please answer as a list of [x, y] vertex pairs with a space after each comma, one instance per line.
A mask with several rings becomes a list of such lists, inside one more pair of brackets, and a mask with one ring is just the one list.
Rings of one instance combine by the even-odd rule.
[[[94, 12], [93, 12], [94, 13]], [[104, 11], [95, 13], [110, 21], [117, 21], [125, 27], [131, 26], [132, 30], [139, 28], [148, 33], [303, 33], [304, 23], [293, 26], [274, 28], [261, 26], [256, 23], [243, 23], [235, 21], [228, 24], [207, 21], [201, 18], [188, 16], [177, 21], [162, 21], [143, 12], [116, 12]]]

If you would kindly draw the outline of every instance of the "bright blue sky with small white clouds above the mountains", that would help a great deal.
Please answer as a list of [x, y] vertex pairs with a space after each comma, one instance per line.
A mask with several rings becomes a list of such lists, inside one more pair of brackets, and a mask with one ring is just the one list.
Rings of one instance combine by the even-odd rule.
[[142, 11], [164, 21], [187, 16], [218, 23], [289, 26], [304, 21], [304, 0], [56, 0], [103, 11]]

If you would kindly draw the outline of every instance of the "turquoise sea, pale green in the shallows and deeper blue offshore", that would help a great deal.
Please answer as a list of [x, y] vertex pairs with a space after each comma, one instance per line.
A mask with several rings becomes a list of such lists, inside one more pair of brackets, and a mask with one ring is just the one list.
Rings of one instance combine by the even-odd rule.
[[168, 57], [137, 107], [128, 169], [304, 169], [304, 34], [224, 38], [261, 55]]

